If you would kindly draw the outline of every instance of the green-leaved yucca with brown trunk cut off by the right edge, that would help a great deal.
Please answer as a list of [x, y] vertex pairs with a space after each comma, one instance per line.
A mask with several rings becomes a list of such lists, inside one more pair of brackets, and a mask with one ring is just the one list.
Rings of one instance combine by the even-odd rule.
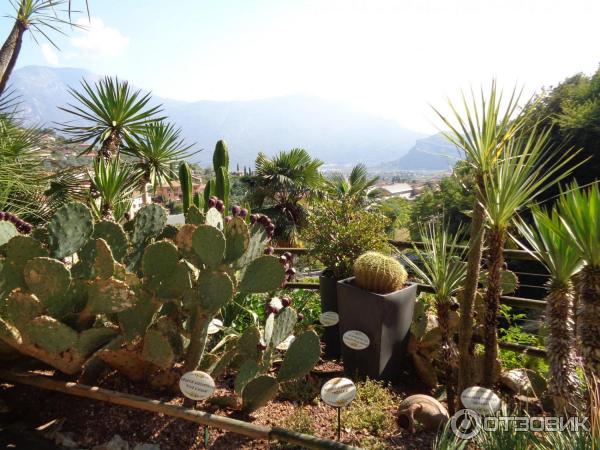
[[600, 189], [576, 184], [558, 201], [569, 242], [581, 255], [577, 330], [581, 356], [590, 378], [600, 375]]

